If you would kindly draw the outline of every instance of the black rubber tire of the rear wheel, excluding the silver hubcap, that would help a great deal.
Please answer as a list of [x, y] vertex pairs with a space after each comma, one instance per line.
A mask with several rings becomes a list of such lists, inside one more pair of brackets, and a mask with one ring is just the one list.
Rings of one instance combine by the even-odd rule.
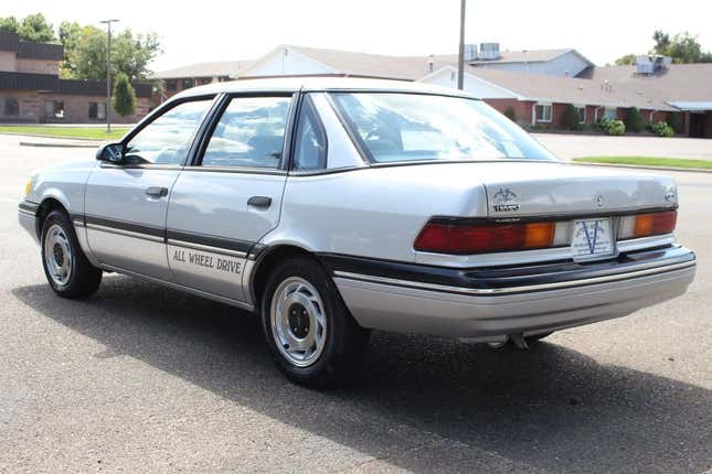
[[[273, 330], [273, 304], [277, 304], [275, 298], [278, 298], [275, 293], [295, 279], [306, 280], [316, 289], [326, 313], [322, 349], [318, 358], [308, 366], [298, 366], [283, 354], [277, 346], [278, 336], [275, 336]], [[280, 294], [284, 294], [281, 290]], [[291, 314], [290, 308], [294, 308], [294, 304], [287, 306]], [[262, 321], [269, 352], [279, 369], [289, 380], [309, 387], [334, 387], [349, 379], [358, 368], [369, 341], [369, 331], [361, 327], [349, 313], [329, 274], [317, 261], [308, 257], [291, 258], [274, 269], [262, 299]], [[288, 344], [285, 346], [288, 347]]]

